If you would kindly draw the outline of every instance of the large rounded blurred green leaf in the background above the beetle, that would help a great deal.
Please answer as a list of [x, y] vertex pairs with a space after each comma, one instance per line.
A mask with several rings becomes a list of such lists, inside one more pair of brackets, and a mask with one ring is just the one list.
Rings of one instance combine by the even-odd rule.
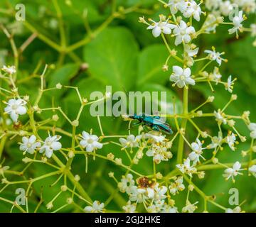
[[126, 28], [107, 28], [84, 49], [92, 77], [113, 90], [129, 89], [136, 80], [138, 46]]

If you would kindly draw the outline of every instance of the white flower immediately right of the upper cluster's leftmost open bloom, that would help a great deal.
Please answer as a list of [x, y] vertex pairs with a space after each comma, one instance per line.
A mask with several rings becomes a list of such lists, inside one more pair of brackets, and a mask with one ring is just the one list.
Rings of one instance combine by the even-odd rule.
[[180, 24], [174, 28], [174, 35], [176, 36], [175, 45], [189, 43], [191, 41], [191, 34], [195, 32], [193, 26], [188, 27], [184, 21], [181, 21]]

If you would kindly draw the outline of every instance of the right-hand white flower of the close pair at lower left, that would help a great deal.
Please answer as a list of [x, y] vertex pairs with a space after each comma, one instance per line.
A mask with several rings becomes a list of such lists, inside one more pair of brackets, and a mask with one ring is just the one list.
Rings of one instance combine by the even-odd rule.
[[53, 135], [53, 136], [48, 136], [46, 140], [43, 142], [42, 147], [40, 148], [39, 152], [46, 153], [46, 157], [50, 158], [53, 155], [53, 150], [60, 150], [61, 149], [61, 143], [58, 142], [60, 140], [61, 136], [60, 135]]

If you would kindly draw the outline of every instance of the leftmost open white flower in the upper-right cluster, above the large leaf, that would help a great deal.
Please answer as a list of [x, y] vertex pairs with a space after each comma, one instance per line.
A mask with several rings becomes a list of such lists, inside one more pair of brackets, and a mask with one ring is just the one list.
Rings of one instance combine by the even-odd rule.
[[169, 18], [167, 18], [166, 21], [162, 21], [162, 19], [163, 19], [162, 16], [160, 16], [159, 22], [151, 20], [151, 21], [153, 21], [153, 25], [151, 25], [147, 28], [147, 29], [152, 30], [152, 34], [154, 35], [154, 37], [159, 37], [159, 35], [161, 35], [161, 33], [169, 35], [169, 34], [171, 34], [171, 29], [176, 28], [176, 26], [174, 26], [173, 24], [168, 23]]

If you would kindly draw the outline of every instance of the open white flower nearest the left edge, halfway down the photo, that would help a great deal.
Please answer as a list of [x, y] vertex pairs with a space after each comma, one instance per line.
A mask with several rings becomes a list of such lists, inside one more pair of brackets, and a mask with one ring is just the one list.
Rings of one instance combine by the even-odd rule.
[[11, 116], [14, 122], [18, 121], [18, 115], [24, 115], [27, 112], [26, 101], [23, 99], [10, 99], [4, 111]]

